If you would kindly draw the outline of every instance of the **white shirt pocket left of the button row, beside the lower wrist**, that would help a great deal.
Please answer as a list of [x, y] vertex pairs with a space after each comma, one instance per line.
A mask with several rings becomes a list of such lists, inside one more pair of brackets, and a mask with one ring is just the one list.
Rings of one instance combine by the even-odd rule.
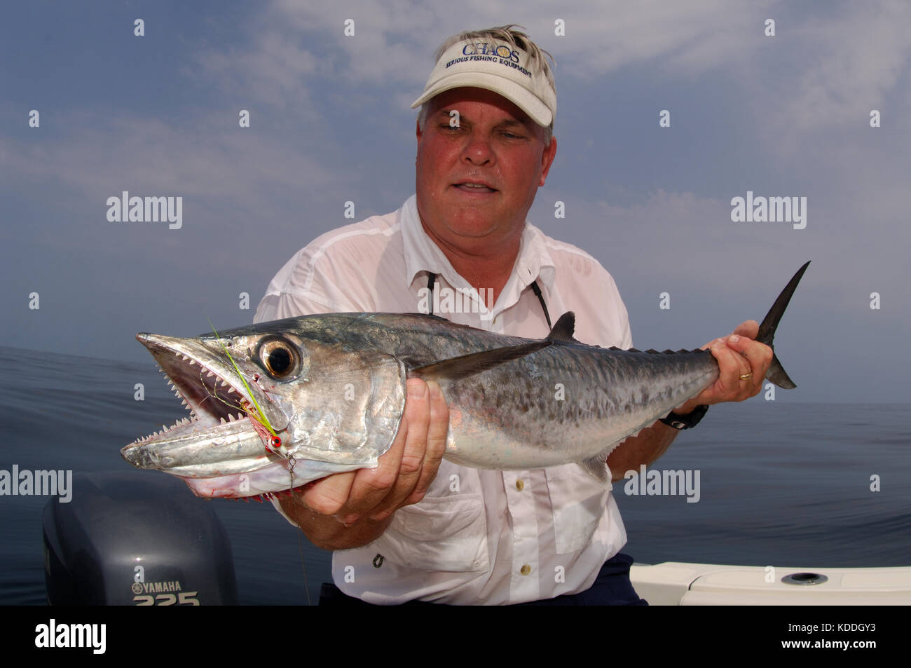
[[374, 545], [384, 558], [416, 570], [488, 570], [484, 498], [480, 492], [425, 497], [396, 510]]

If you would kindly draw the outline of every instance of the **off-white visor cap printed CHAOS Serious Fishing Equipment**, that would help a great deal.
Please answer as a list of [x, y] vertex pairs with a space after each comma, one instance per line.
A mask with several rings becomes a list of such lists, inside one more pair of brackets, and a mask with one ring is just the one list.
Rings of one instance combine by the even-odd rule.
[[529, 67], [528, 54], [503, 40], [466, 39], [445, 50], [430, 73], [418, 108], [445, 90], [478, 87], [492, 90], [538, 125], [547, 128], [557, 115], [557, 94], [543, 67]]

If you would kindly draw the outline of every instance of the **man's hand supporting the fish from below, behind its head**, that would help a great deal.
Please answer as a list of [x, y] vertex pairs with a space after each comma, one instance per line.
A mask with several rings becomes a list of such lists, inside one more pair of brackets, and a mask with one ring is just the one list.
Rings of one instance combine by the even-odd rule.
[[302, 494], [281, 498], [281, 508], [321, 547], [365, 545], [384, 532], [395, 510], [424, 498], [443, 458], [448, 428], [439, 385], [410, 378], [402, 425], [377, 467], [317, 480]]

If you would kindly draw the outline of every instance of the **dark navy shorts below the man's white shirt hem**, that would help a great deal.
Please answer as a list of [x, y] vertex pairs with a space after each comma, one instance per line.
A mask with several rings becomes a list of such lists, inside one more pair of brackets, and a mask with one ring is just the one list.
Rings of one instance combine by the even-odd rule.
[[[604, 562], [595, 583], [586, 591], [578, 594], [563, 594], [554, 599], [541, 601], [528, 601], [516, 605], [648, 605], [644, 599], [632, 588], [630, 582], [630, 566], [632, 557], [627, 554], [617, 554]], [[332, 583], [324, 583], [320, 591], [320, 605], [371, 605], [348, 596]], [[428, 601], [407, 601], [403, 605], [437, 605]]]

